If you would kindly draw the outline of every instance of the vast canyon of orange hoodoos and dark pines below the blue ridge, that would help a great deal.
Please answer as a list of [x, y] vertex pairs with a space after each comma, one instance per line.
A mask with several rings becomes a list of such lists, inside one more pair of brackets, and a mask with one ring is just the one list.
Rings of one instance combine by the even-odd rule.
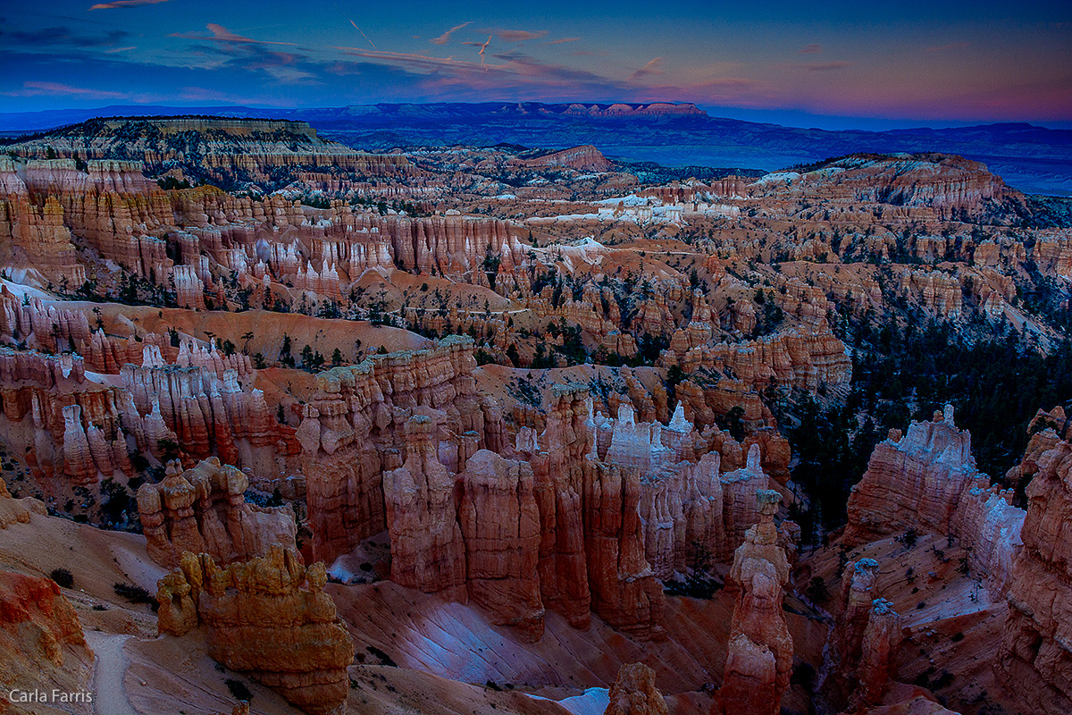
[[[8, 148], [9, 690], [1072, 707], [1072, 228], [980, 162], [655, 181], [589, 144], [371, 153], [207, 117]], [[991, 386], [996, 415], [938, 341], [1053, 372]]]

